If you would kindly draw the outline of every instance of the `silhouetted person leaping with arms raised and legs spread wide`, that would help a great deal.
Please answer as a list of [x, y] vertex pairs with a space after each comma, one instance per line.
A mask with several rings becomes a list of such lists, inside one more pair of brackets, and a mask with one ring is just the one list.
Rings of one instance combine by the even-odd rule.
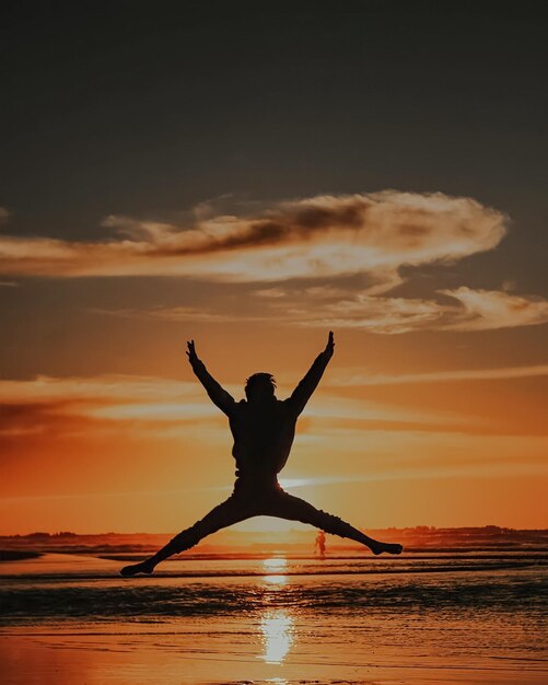
[[278, 474], [285, 463], [295, 437], [295, 425], [333, 357], [334, 335], [330, 332], [320, 352], [291, 397], [280, 400], [275, 395], [276, 382], [270, 373], [254, 373], [245, 385], [246, 399], [236, 402], [208, 372], [198, 359], [194, 340], [187, 344], [188, 361], [206, 388], [211, 402], [229, 417], [234, 437], [232, 455], [236, 461], [234, 491], [203, 519], [186, 529], [155, 555], [121, 569], [123, 576], [152, 573], [155, 566], [174, 554], [189, 549], [200, 539], [238, 521], [267, 515], [301, 521], [340, 537], [365, 545], [375, 555], [400, 554], [401, 545], [382, 543], [368, 537], [338, 516], [316, 509], [299, 497], [284, 492]]

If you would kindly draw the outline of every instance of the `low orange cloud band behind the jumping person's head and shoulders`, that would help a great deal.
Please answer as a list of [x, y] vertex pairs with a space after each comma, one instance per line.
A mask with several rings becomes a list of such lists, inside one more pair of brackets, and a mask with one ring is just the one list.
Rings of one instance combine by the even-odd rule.
[[[295, 384], [299, 379], [295, 380]], [[226, 385], [234, 397], [243, 384]], [[293, 386], [279, 388], [279, 396]], [[13, 436], [63, 427], [89, 429], [91, 421], [132, 421], [143, 426], [210, 420], [221, 417], [198, 382], [183, 383], [158, 378], [105, 375], [91, 379], [39, 376], [28, 381], [0, 380], [0, 434]], [[328, 395], [315, 397], [306, 408], [312, 419], [359, 420], [390, 423], [441, 425], [469, 422], [450, 413], [420, 411]]]

